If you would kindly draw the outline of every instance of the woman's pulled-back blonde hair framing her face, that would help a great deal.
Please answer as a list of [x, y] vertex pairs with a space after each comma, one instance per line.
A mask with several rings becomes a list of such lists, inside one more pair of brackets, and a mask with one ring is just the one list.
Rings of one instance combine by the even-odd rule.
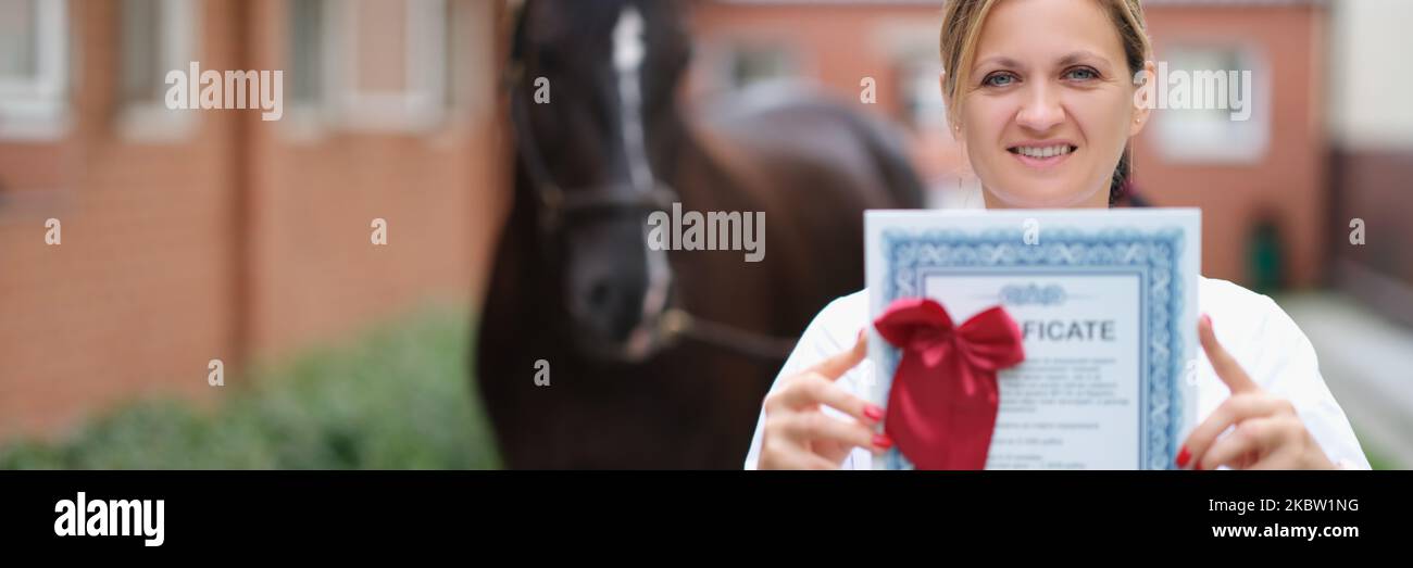
[[[942, 32], [940, 51], [942, 55], [942, 69], [947, 76], [942, 79], [942, 95], [947, 96], [947, 122], [957, 126], [957, 109], [962, 85], [969, 85], [971, 62], [976, 58], [976, 44], [981, 40], [981, 27], [986, 21], [986, 14], [1000, 0], [947, 0], [942, 8]], [[1143, 71], [1143, 62], [1153, 52], [1153, 45], [1147, 37], [1147, 24], [1143, 21], [1142, 0], [1095, 0], [1104, 6], [1109, 21], [1119, 32], [1123, 44], [1123, 58], [1129, 66], [1129, 76]], [[958, 96], [961, 95], [961, 96]], [[1109, 184], [1109, 202], [1112, 203], [1132, 174], [1132, 148], [1123, 147], [1123, 155], [1113, 170], [1113, 179]]]

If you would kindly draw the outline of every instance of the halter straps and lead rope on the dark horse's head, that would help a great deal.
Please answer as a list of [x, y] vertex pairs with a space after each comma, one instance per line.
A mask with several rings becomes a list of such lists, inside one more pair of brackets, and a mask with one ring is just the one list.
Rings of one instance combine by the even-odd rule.
[[[506, 88], [510, 97], [510, 129], [516, 144], [517, 160], [530, 177], [534, 198], [540, 205], [538, 227], [544, 246], [558, 242], [560, 232], [564, 230], [565, 219], [574, 215], [591, 212], [651, 212], [670, 209], [680, 202], [677, 191], [653, 177], [653, 188], [649, 191], [620, 192], [613, 191], [613, 185], [584, 187], [575, 191], [564, 191], [554, 181], [540, 146], [534, 140], [530, 124], [528, 103], [521, 92], [520, 82], [524, 73], [521, 61], [521, 42], [524, 27], [524, 11], [516, 14], [514, 40], [510, 55], [510, 65], [506, 73]], [[749, 329], [736, 328], [726, 324], [712, 322], [694, 316], [691, 312], [664, 305], [664, 309], [651, 318], [643, 318], [639, 325], [653, 325], [650, 329], [653, 348], [674, 343], [678, 338], [699, 341], [738, 353], [766, 359], [784, 360], [794, 349], [796, 339], [776, 338]]]

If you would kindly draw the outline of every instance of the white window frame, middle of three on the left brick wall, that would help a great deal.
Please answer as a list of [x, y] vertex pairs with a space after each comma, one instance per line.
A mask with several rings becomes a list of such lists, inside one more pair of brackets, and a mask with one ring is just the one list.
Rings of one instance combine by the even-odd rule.
[[[157, 0], [157, 10], [162, 13], [161, 30], [155, 30], [161, 35], [157, 54], [160, 81], [165, 79], [167, 72], [172, 69], [189, 73], [191, 62], [201, 61], [199, 47], [196, 45], [196, 28], [202, 25], [201, 4], [202, 0]], [[122, 10], [123, 4], [119, 3], [117, 6]], [[126, 30], [120, 30], [122, 32], [126, 32]], [[119, 57], [119, 72], [124, 71], [122, 69], [123, 64], [123, 58]], [[201, 71], [205, 72], [209, 69], [202, 65]], [[188, 76], [187, 81], [199, 85], [201, 78]], [[171, 85], [164, 82], [160, 92], [165, 93], [170, 88]], [[117, 90], [120, 92], [122, 89]], [[122, 138], [134, 143], [171, 144], [184, 141], [196, 130], [198, 116], [201, 114], [198, 109], [168, 109], [165, 96], [162, 95], [158, 95], [157, 99], [143, 102], [122, 100], [119, 97], [119, 103], [122, 109], [117, 113], [117, 133]]]

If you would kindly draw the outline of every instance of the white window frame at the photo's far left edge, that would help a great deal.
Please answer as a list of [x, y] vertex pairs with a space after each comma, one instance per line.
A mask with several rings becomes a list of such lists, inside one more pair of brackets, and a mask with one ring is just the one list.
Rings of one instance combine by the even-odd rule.
[[51, 141], [69, 130], [68, 1], [35, 0], [35, 73], [0, 78], [0, 140]]

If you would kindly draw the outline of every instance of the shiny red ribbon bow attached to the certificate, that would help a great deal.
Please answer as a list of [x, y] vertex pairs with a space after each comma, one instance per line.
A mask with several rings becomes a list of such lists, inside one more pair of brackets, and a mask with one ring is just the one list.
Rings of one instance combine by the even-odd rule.
[[996, 372], [1026, 359], [1016, 321], [1002, 307], [961, 326], [941, 304], [900, 298], [873, 326], [903, 350], [883, 431], [918, 469], [982, 469], [996, 428]]

